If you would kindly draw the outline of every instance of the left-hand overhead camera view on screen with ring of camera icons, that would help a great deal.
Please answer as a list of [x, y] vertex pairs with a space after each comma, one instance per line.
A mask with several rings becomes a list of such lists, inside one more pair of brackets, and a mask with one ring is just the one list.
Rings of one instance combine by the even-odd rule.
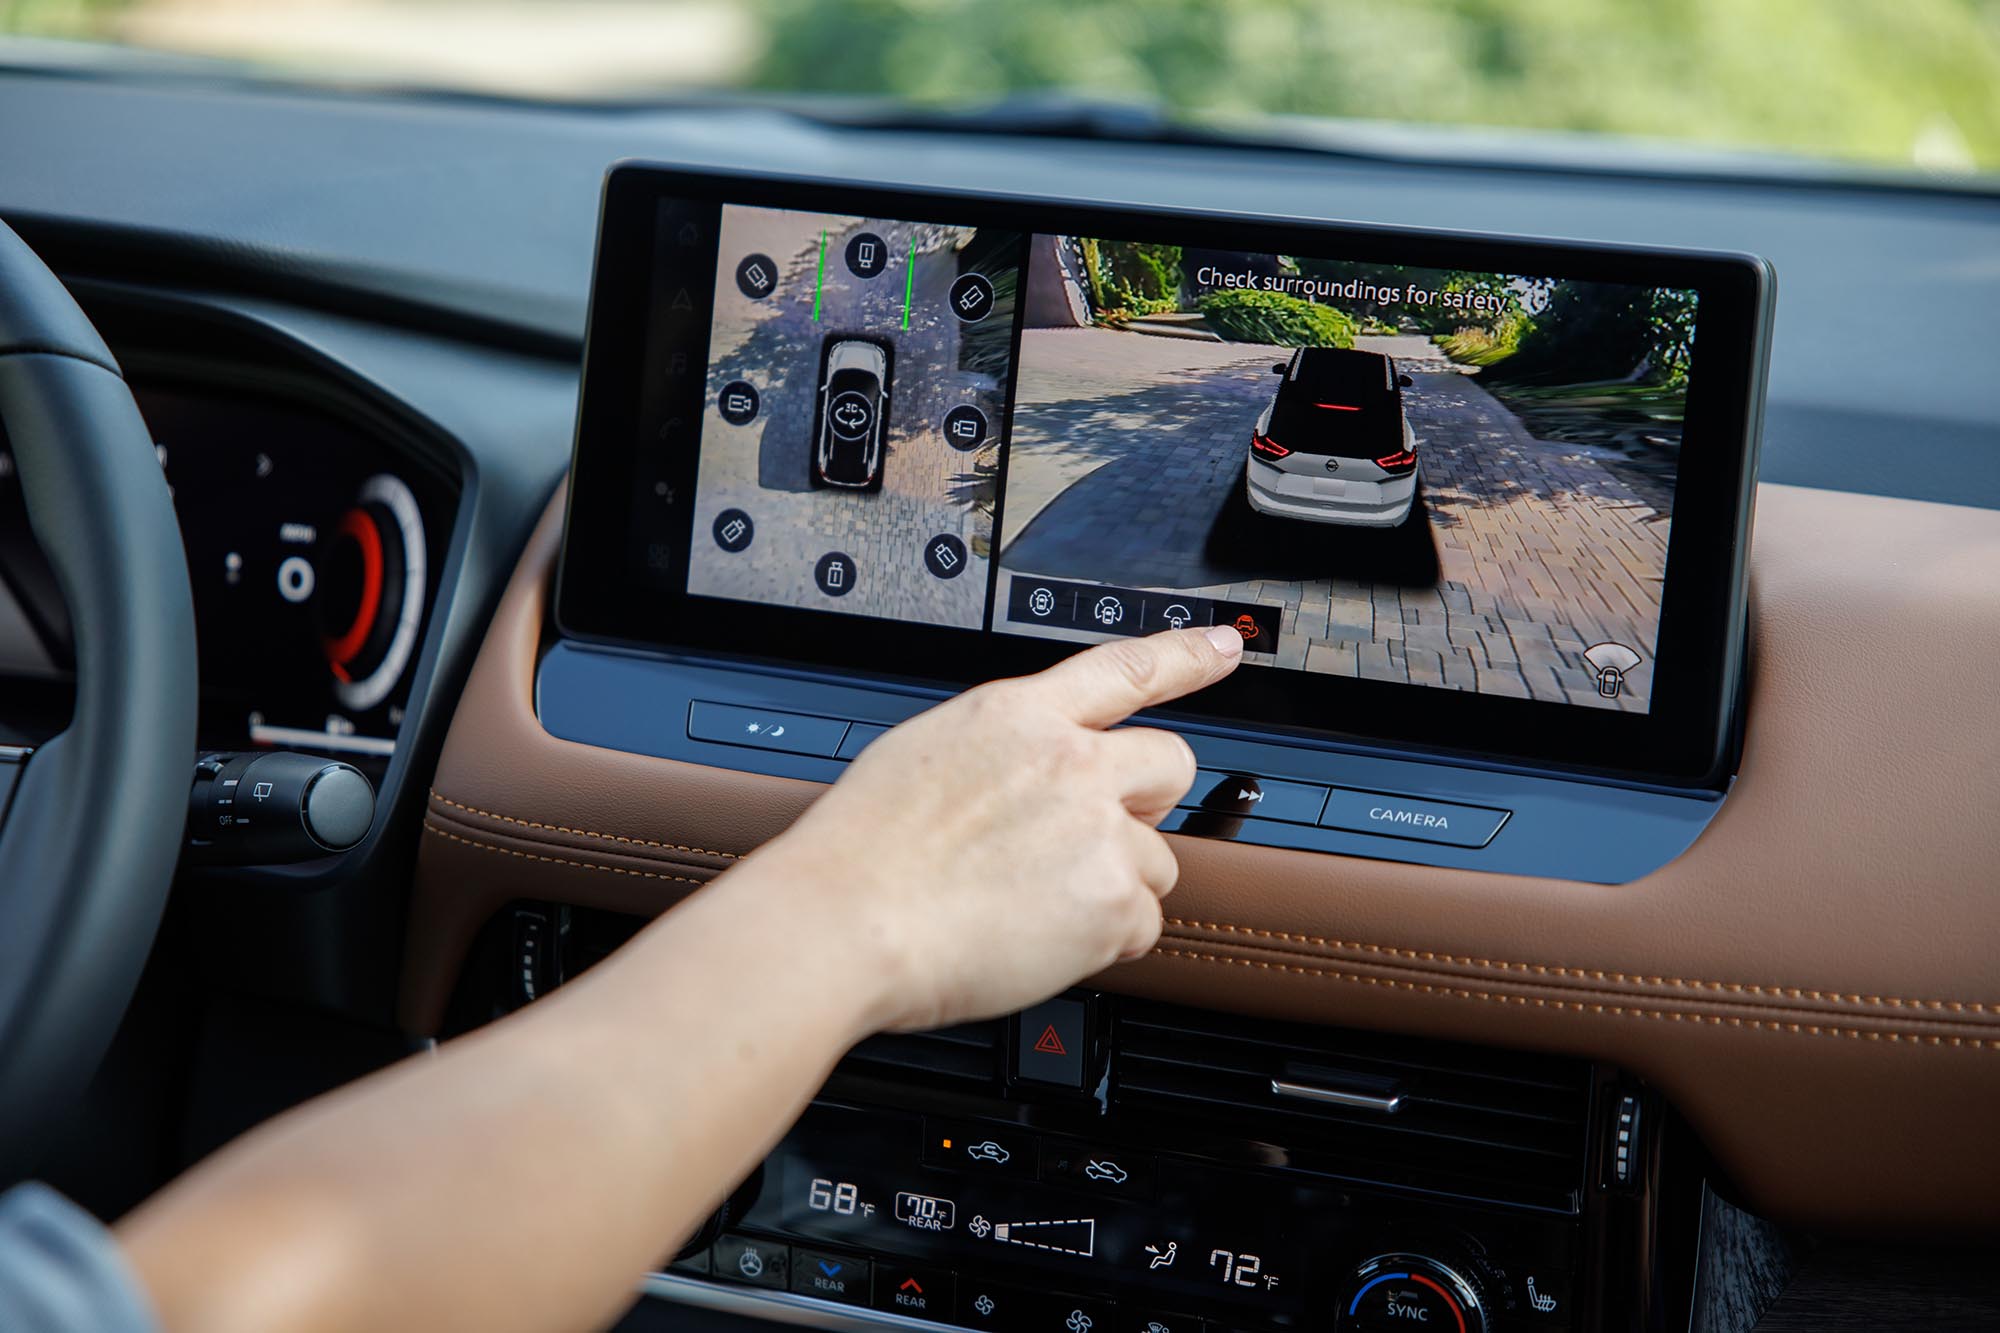
[[724, 206], [688, 590], [978, 628], [1022, 238]]

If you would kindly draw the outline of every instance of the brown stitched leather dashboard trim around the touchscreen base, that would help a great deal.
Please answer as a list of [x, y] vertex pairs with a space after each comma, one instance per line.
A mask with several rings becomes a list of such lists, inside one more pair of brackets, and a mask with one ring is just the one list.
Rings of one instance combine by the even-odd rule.
[[[432, 785], [418, 1033], [508, 901], [664, 911], [822, 791], [540, 729], [560, 512]], [[2000, 1227], [2000, 514], [1764, 486], [1752, 586], [1742, 771], [1672, 865], [1576, 885], [1176, 839], [1160, 949], [1098, 985], [1610, 1061], [1768, 1215]]]

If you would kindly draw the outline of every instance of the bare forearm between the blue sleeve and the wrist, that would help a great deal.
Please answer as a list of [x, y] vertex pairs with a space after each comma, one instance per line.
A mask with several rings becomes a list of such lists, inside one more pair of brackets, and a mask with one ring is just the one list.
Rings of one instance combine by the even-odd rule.
[[608, 1321], [882, 1019], [882, 979], [826, 947], [828, 891], [774, 853], [546, 1001], [282, 1117], [140, 1209], [120, 1239], [166, 1327]]

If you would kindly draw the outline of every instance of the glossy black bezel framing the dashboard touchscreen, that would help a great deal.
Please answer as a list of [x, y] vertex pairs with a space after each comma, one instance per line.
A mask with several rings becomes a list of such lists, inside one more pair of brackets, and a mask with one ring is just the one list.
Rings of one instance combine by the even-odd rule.
[[[644, 430], [640, 416], [654, 302], [662, 278], [686, 278], [674, 286], [688, 286], [696, 294], [696, 314], [708, 310], [714, 290], [712, 240], [706, 248], [688, 250], [694, 258], [684, 272], [680, 264], [668, 268], [684, 246], [662, 246], [662, 206], [706, 216], [710, 224], [696, 230], [714, 238], [714, 218], [722, 204], [1694, 288], [1698, 350], [1688, 382], [1684, 434], [1690, 444], [1678, 464], [1658, 666], [1648, 713], [1270, 666], [1246, 666], [1166, 713], [1202, 723], [1676, 787], [1716, 787], [1732, 771], [1744, 640], [1744, 564], [1772, 294], [1766, 262], [1742, 254], [1112, 208], [648, 164], [614, 166], [604, 184], [592, 276], [558, 572], [560, 632], [596, 642], [942, 687], [1038, 671], [1074, 652], [1076, 644], [686, 592], [698, 432], [660, 456], [660, 494], [684, 500], [656, 506], [652, 526], [634, 532], [640, 522], [640, 508], [632, 502], [638, 476], [634, 464]], [[694, 346], [700, 348], [698, 364], [706, 366], [706, 340], [698, 338]], [[702, 376], [688, 378], [696, 384], [690, 410], [698, 418]], [[1004, 420], [1000, 430], [1010, 424]], [[650, 434], [646, 442], [658, 448]], [[640, 548], [664, 550], [670, 574], [662, 578], [648, 572], [634, 558]], [[800, 654], [800, 644], [812, 644], [810, 656]]]

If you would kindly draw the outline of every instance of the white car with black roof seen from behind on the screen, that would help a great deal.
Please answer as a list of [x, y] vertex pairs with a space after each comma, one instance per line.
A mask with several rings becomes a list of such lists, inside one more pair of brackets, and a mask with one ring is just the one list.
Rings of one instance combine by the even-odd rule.
[[1416, 500], [1408, 374], [1380, 352], [1306, 346], [1256, 418], [1244, 460], [1250, 508], [1278, 518], [1392, 528]]

